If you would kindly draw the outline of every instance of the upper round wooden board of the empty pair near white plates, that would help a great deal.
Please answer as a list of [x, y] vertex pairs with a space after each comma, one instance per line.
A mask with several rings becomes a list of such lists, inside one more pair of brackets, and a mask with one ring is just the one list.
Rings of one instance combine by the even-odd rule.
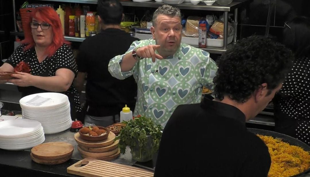
[[70, 143], [50, 142], [39, 144], [31, 149], [32, 156], [38, 160], [61, 160], [71, 158], [74, 147]]

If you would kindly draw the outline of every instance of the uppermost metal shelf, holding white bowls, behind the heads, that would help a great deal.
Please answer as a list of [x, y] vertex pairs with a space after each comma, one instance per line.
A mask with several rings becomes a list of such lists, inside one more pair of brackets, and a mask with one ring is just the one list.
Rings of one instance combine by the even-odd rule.
[[[55, 2], [76, 2], [76, 3], [87, 3], [87, 4], [97, 4], [97, 0], [40, 0], [40, 1], [55, 1]], [[125, 1], [121, 2], [123, 6], [129, 7], [153, 7], [157, 8], [163, 5], [163, 2], [132, 2]], [[197, 5], [193, 5], [190, 2], [183, 2], [181, 4], [174, 4], [173, 6], [178, 7], [179, 9], [190, 9], [190, 10], [205, 10], [205, 11], [231, 11], [235, 8], [238, 8], [242, 2], [232, 2], [229, 5], [219, 5], [218, 3], [214, 3], [211, 6], [206, 6], [203, 2], [200, 2]]]

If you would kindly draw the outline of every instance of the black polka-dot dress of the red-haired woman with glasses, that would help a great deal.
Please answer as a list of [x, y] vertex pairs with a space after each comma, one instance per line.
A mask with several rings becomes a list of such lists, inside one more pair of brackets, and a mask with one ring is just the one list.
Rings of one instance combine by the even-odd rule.
[[[25, 46], [26, 44], [19, 46], [6, 62], [15, 67], [20, 61], [24, 61], [29, 64], [31, 74], [36, 76], [55, 76], [56, 70], [60, 68], [72, 70], [74, 74], [77, 75], [77, 64], [73, 57], [72, 49], [68, 45], [63, 44], [53, 56], [46, 58], [41, 63], [38, 61], [35, 48], [33, 47], [29, 50], [23, 51]], [[18, 89], [23, 97], [34, 93], [50, 92], [33, 86], [18, 87]], [[73, 87], [73, 83], [66, 92], [61, 93], [67, 95], [69, 98], [71, 119], [80, 119], [82, 107], [79, 103], [79, 94]]]

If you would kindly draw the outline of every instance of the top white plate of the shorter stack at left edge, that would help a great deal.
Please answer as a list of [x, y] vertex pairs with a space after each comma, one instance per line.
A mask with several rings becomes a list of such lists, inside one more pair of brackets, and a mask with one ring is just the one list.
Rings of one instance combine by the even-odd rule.
[[20, 136], [37, 131], [41, 123], [36, 120], [15, 119], [0, 122], [0, 136]]

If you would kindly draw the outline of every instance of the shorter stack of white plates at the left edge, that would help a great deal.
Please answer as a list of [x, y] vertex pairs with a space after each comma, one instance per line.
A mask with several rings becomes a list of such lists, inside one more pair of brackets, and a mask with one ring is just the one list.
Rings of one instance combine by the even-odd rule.
[[24, 150], [45, 141], [40, 122], [28, 119], [5, 120], [0, 122], [0, 148]]

